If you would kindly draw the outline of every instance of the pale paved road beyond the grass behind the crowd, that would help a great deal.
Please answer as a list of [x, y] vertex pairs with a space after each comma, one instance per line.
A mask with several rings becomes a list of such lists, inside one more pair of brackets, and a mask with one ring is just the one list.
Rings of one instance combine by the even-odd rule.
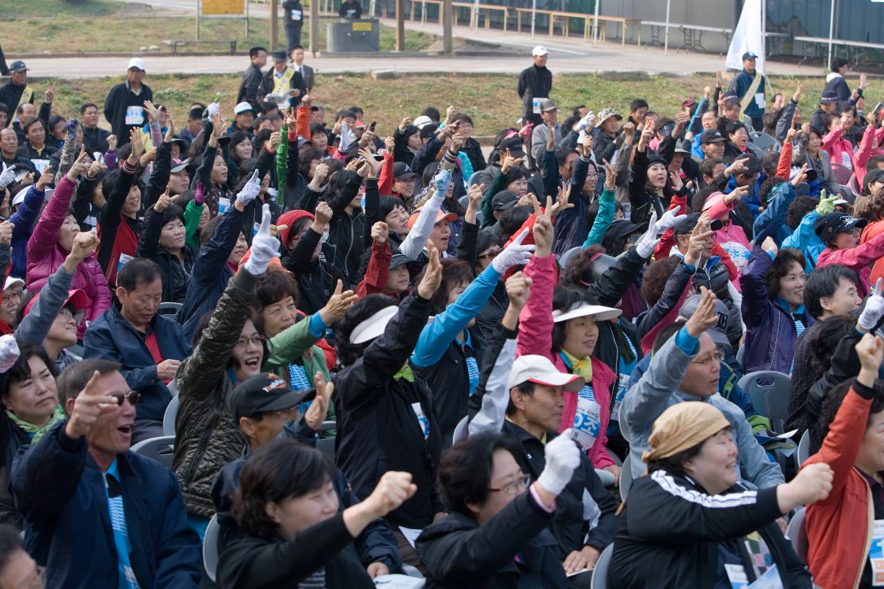
[[[131, 1], [131, 0], [130, 0]], [[168, 8], [175, 11], [194, 11], [196, 0], [158, 0], [151, 3], [154, 10]], [[255, 16], [267, 17], [268, 8], [263, 4], [251, 4], [250, 11]], [[384, 20], [393, 25], [392, 20]], [[409, 23], [408, 30], [442, 34], [437, 24]], [[602, 71], [644, 72], [644, 73], [712, 73], [724, 68], [724, 57], [670, 50], [664, 55], [660, 48], [636, 47], [635, 43], [621, 46], [619, 42], [599, 43], [593, 48], [591, 43], [579, 39], [564, 40], [561, 37], [549, 38], [537, 34], [516, 34], [512, 31], [480, 29], [476, 33], [469, 27], [454, 27], [455, 37], [476, 38], [482, 42], [496, 43], [503, 48], [511, 48], [513, 55], [486, 57], [413, 57], [386, 54], [384, 57], [337, 57], [317, 56], [309, 59], [309, 64], [320, 73], [364, 73], [378, 69], [392, 69], [402, 73], [423, 72], [462, 72], [462, 73], [517, 73], [530, 64], [530, 48], [544, 44], [550, 50], [549, 67], [553, 73], [588, 73]], [[11, 57], [8, 56], [7, 59]], [[230, 56], [179, 56], [171, 57], [165, 48], [156, 55], [145, 55], [148, 74], [151, 73], [239, 73], [248, 65], [246, 57]], [[74, 57], [44, 58], [31, 57], [27, 65], [34, 76], [62, 78], [92, 78], [116, 76], [123, 73], [126, 57]], [[805, 65], [767, 64], [768, 73], [773, 75], [816, 75], [819, 67]]]

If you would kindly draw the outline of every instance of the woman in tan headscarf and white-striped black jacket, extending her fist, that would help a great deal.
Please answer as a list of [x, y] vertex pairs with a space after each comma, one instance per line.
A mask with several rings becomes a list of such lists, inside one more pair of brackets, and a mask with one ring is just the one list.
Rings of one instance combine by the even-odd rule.
[[[744, 575], [749, 582], [764, 577], [774, 586], [812, 587], [775, 520], [825, 499], [832, 470], [814, 464], [787, 484], [748, 491], [737, 483], [732, 432], [728, 417], [709, 403], [677, 403], [656, 419], [642, 454], [649, 474], [636, 478], [621, 511], [610, 586], [720, 587]], [[750, 552], [754, 542], [743, 538], [751, 532], [773, 561], [766, 567], [757, 564], [766, 558]]]

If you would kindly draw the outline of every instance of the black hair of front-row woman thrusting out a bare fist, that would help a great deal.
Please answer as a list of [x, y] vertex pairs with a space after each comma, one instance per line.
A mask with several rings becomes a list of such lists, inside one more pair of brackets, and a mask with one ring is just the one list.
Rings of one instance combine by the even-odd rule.
[[290, 439], [277, 439], [246, 459], [240, 488], [233, 493], [233, 515], [240, 531], [272, 541], [278, 524], [267, 515], [268, 502], [303, 497], [337, 477], [334, 464], [318, 450]]

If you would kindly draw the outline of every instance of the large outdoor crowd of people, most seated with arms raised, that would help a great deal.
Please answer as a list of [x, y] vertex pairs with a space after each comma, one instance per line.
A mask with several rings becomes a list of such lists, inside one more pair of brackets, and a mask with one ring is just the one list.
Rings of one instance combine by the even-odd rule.
[[560, 113], [538, 46], [517, 126], [375, 122], [318, 103], [284, 5], [232, 111], [134, 57], [57, 113], [8, 67], [0, 588], [880, 585], [865, 76], [787, 100], [747, 53], [675, 112]]

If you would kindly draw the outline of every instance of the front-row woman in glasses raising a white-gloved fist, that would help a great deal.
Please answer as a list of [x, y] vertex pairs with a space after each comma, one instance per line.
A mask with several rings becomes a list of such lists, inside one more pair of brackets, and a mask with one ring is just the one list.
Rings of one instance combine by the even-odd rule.
[[550, 441], [533, 484], [515, 459], [521, 452], [512, 438], [483, 432], [455, 444], [439, 463], [448, 515], [416, 542], [428, 586], [570, 586], [547, 528], [580, 452], [569, 435]]

